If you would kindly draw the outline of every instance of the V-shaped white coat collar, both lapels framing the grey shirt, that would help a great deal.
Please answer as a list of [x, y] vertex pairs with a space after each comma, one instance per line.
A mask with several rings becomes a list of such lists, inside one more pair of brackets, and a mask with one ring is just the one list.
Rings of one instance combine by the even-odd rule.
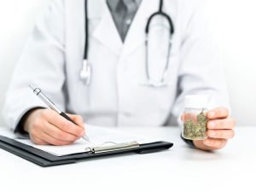
[[89, 19], [101, 18], [92, 33], [93, 38], [96, 38], [104, 46], [112, 49], [114, 53], [122, 57], [130, 55], [139, 45], [145, 42], [145, 27], [148, 17], [157, 11], [159, 7], [158, 1], [142, 1], [123, 44], [107, 2], [103, 0], [90, 2], [92, 3], [89, 4]]

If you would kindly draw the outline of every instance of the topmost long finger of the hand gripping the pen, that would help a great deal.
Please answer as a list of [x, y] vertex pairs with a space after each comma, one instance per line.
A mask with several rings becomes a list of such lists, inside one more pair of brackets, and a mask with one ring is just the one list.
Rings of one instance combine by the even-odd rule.
[[63, 118], [58, 113], [55, 113], [53, 110], [46, 110], [42, 112], [42, 115], [44, 116], [44, 119], [47, 119], [51, 125], [55, 125], [62, 131], [66, 131], [77, 137], [84, 137], [84, 129], [82, 127], [73, 124], [71, 121]]

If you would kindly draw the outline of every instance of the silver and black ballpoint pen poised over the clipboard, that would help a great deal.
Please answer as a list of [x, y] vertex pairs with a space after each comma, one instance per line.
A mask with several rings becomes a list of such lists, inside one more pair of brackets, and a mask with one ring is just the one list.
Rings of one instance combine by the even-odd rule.
[[[39, 88], [36, 88], [34, 85], [30, 84], [29, 87], [33, 90], [34, 94], [36, 94], [46, 105], [49, 106], [49, 108], [51, 108], [52, 110], [54, 110], [55, 112], [59, 113], [63, 118], [71, 121], [73, 124], [77, 125], [72, 119], [70, 119], [66, 113], [62, 112], [61, 109], [57, 108], [55, 106], [55, 103], [50, 101], [48, 96], [45, 96], [44, 93], [42, 92], [42, 90], [40, 90]], [[90, 143], [90, 139], [89, 137], [87, 137], [86, 135], [84, 137], [82, 137], [86, 142]]]

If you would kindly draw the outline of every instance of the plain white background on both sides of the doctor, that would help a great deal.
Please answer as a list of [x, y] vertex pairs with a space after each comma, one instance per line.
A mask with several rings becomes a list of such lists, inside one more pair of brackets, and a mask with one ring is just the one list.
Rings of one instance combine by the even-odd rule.
[[[0, 0], [0, 110], [35, 15], [49, 1]], [[213, 31], [223, 50], [233, 116], [238, 125], [256, 125], [256, 2], [207, 0], [207, 5]]]

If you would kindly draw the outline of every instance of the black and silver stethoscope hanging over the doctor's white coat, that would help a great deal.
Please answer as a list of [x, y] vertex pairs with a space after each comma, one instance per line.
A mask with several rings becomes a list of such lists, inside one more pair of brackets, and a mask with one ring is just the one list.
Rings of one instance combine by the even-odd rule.
[[[88, 62], [88, 48], [89, 48], [89, 24], [88, 24], [88, 0], [84, 1], [84, 9], [85, 9], [85, 46], [84, 46], [84, 61], [83, 61], [83, 67], [80, 72], [80, 79], [82, 82], [84, 82], [85, 85], [90, 85], [91, 82], [91, 74], [92, 74], [92, 67], [90, 63]], [[159, 80], [155, 80], [150, 76], [149, 73], [149, 64], [148, 64], [148, 34], [149, 34], [149, 28], [151, 21], [154, 19], [155, 16], [162, 16], [165, 18], [168, 22], [168, 25], [170, 26], [170, 38], [168, 42], [168, 49], [167, 49], [167, 58], [166, 58], [166, 65], [163, 69], [163, 73], [160, 76]], [[150, 15], [148, 18], [147, 26], [145, 29], [146, 38], [145, 38], [145, 46], [146, 46], [146, 82], [143, 83], [143, 85], [153, 86], [153, 87], [162, 87], [166, 86], [168, 83], [166, 82], [166, 76], [169, 69], [169, 60], [170, 60], [170, 54], [172, 49], [172, 36], [174, 33], [174, 26], [172, 23], [172, 19], [169, 15], [166, 15], [166, 13], [163, 12], [163, 0], [160, 0], [160, 8], [157, 12], [155, 12], [153, 15]]]

